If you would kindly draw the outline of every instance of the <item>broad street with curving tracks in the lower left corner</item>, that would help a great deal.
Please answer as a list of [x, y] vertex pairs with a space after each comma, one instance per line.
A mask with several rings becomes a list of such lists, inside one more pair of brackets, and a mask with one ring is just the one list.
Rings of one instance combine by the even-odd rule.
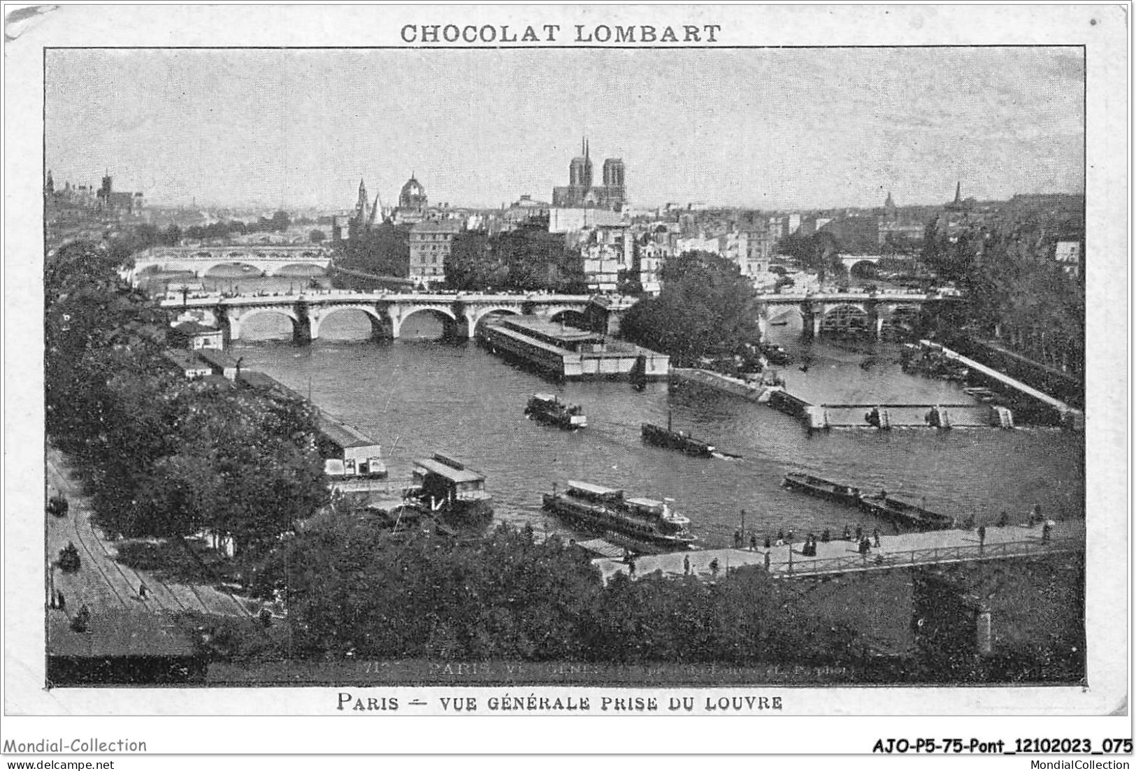
[[[193, 640], [174, 623], [178, 613], [252, 618], [260, 603], [241, 600], [208, 584], [175, 583], [119, 561], [119, 550], [145, 540], [111, 540], [92, 521], [68, 460], [47, 450], [49, 495], [62, 494], [64, 517], [47, 516], [45, 606], [48, 679], [55, 685], [81, 682], [192, 681], [202, 672]], [[72, 544], [80, 568], [65, 572], [55, 564]], [[61, 597], [61, 601], [60, 601]], [[85, 630], [75, 619], [86, 609]]]

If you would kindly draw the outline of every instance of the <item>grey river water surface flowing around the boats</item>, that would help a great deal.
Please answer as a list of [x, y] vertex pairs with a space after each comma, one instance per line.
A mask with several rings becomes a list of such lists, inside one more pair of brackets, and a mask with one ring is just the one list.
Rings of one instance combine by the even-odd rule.
[[[272, 282], [289, 288], [287, 279], [256, 280], [266, 287]], [[785, 319], [770, 338], [794, 354], [784, 375], [790, 391], [807, 400], [969, 401], [955, 384], [901, 371], [894, 344], [809, 345], [800, 338], [800, 317], [791, 312]], [[457, 458], [487, 475], [498, 519], [528, 522], [538, 531], [570, 533], [541, 511], [541, 494], [567, 479], [673, 497], [709, 546], [732, 540], [742, 509], [746, 529], [759, 538], [778, 529], [838, 533], [857, 523], [869, 533], [887, 531], [870, 517], [784, 489], [786, 471], [886, 488], [960, 520], [974, 514], [992, 523], [1005, 510], [1020, 521], [1035, 503], [1047, 516], [1084, 516], [1084, 442], [1077, 434], [847, 429], [810, 437], [788, 416], [712, 391], [666, 383], [643, 392], [626, 383], [551, 383], [474, 343], [437, 341], [441, 324], [428, 313], [408, 319], [399, 341], [366, 342], [369, 330], [361, 312], [343, 311], [321, 325], [318, 342], [298, 347], [287, 320], [266, 313], [245, 322], [233, 354], [243, 358], [244, 369], [310, 393], [321, 409], [376, 437], [392, 478], [408, 478], [414, 458], [432, 452]], [[802, 358], [810, 362], [807, 372], [797, 366]], [[570, 433], [526, 419], [525, 402], [538, 392], [583, 404], [588, 427]], [[643, 444], [640, 424], [665, 425], [668, 411], [676, 428], [742, 459], [687, 458]]]

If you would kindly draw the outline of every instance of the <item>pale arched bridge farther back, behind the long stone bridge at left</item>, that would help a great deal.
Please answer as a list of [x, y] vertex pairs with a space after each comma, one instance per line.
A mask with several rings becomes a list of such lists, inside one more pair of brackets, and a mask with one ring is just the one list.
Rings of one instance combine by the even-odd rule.
[[332, 252], [316, 244], [227, 244], [224, 246], [153, 246], [135, 255], [130, 280], [150, 270], [192, 273], [201, 277], [219, 266], [240, 267], [250, 275], [276, 276], [296, 268], [321, 273]]

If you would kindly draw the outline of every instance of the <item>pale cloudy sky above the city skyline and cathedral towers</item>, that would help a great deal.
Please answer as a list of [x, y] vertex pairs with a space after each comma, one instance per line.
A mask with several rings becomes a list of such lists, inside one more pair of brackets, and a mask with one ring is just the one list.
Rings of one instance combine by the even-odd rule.
[[57, 183], [152, 203], [549, 201], [590, 140], [635, 208], [942, 203], [1079, 192], [1079, 48], [56, 49]]

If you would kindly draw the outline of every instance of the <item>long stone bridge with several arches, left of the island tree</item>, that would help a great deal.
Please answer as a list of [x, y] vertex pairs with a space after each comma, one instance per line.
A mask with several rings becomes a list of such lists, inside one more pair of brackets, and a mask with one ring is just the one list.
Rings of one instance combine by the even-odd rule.
[[328, 317], [342, 311], [365, 313], [375, 337], [398, 338], [402, 325], [415, 313], [442, 320], [446, 336], [473, 338], [477, 325], [494, 315], [537, 316], [551, 321], [576, 315], [591, 328], [611, 312], [590, 295], [574, 294], [473, 294], [321, 291], [299, 295], [198, 295], [167, 299], [166, 308], [198, 308], [210, 311], [225, 333], [226, 342], [241, 340], [245, 321], [261, 313], [276, 313], [292, 322], [293, 340], [308, 343], [319, 338]]

